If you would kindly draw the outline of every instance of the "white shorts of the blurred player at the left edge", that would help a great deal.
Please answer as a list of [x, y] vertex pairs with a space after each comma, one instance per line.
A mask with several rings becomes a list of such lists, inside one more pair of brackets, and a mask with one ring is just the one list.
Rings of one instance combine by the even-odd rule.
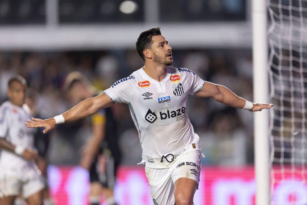
[[44, 188], [44, 180], [37, 167], [27, 167], [22, 175], [6, 171], [0, 176], [0, 197], [21, 195], [27, 199]]

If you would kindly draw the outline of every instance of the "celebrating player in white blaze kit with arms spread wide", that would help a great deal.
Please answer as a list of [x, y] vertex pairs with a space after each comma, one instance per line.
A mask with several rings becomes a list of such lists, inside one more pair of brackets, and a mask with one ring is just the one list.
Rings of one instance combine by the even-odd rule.
[[117, 102], [126, 103], [139, 132], [141, 163], [145, 163], [153, 203], [193, 204], [203, 154], [199, 136], [194, 133], [187, 115], [188, 94], [210, 97], [249, 111], [261, 111], [273, 105], [249, 102], [224, 86], [203, 81], [189, 69], [171, 67], [172, 47], [159, 27], [142, 32], [136, 50], [144, 67], [62, 115], [45, 120], [32, 118], [25, 124], [45, 127], [46, 133], [56, 124], [87, 117]]

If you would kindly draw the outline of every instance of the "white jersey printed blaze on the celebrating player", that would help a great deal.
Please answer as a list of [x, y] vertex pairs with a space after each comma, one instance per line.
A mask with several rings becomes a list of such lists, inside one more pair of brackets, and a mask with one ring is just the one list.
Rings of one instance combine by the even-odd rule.
[[143, 68], [123, 78], [104, 92], [114, 101], [128, 104], [138, 130], [142, 162], [146, 167], [168, 168], [190, 147], [199, 149], [187, 115], [188, 94], [195, 94], [204, 81], [194, 72], [168, 66], [161, 82]]

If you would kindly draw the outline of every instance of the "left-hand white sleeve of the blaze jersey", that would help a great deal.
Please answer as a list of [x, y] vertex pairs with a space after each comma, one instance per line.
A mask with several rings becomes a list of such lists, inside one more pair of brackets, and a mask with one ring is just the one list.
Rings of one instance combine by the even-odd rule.
[[104, 90], [115, 103], [122, 102], [128, 104], [135, 89], [135, 78], [130, 75], [115, 82], [110, 88]]

